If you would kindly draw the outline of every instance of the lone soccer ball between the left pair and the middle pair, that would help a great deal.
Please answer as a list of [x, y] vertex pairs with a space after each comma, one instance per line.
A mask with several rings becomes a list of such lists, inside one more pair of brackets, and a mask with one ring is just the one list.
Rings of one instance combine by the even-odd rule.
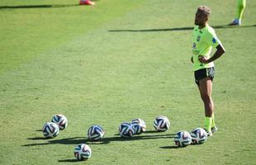
[[92, 125], [88, 129], [88, 139], [91, 139], [92, 141], [100, 140], [104, 137], [105, 130], [102, 129], [100, 125]]

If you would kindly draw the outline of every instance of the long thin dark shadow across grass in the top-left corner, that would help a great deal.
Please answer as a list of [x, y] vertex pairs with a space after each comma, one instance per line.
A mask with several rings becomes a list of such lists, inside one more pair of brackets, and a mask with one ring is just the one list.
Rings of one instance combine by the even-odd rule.
[[19, 6], [0, 6], [1, 9], [26, 9], [26, 8], [59, 8], [59, 7], [76, 7], [79, 4], [55, 4], [55, 5], [19, 5]]

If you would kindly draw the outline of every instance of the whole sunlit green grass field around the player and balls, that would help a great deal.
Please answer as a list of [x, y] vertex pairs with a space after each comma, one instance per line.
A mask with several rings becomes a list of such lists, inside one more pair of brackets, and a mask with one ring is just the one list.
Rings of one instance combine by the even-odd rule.
[[[235, 0], [1, 0], [0, 164], [256, 164], [256, 1], [240, 27]], [[175, 148], [178, 130], [203, 126], [194, 83], [192, 27], [197, 7], [225, 46], [212, 97], [219, 131], [206, 144]], [[41, 128], [55, 114], [69, 126], [55, 139]], [[166, 115], [170, 130], [154, 132]], [[147, 132], [121, 139], [118, 126], [145, 120]], [[106, 130], [87, 140], [91, 125]], [[77, 162], [87, 143], [92, 157]]]

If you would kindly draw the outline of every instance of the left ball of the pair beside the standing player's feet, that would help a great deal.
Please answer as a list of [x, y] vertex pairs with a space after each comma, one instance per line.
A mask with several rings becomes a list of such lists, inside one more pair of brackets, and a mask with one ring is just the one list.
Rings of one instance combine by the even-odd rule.
[[175, 135], [174, 142], [178, 147], [186, 147], [191, 144], [192, 138], [187, 131], [182, 130]]

